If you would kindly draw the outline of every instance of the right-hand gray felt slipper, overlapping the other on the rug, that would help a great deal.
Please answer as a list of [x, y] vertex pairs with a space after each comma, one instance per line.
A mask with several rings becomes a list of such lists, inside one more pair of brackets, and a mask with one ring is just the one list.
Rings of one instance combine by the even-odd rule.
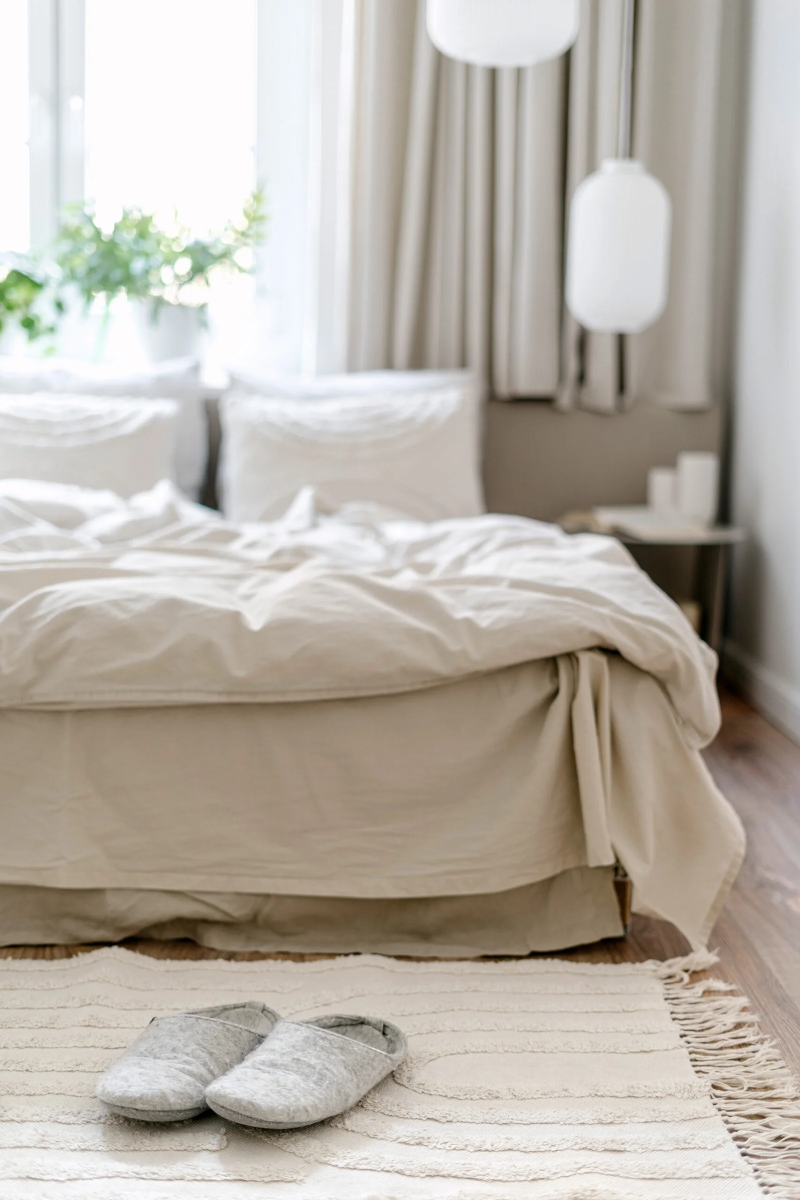
[[221, 1117], [259, 1129], [296, 1129], [344, 1112], [399, 1067], [405, 1037], [372, 1016], [279, 1021], [269, 1038], [206, 1088]]

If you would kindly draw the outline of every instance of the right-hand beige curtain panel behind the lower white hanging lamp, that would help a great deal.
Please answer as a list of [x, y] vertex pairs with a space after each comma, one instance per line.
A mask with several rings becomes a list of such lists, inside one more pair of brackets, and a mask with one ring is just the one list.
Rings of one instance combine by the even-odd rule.
[[[724, 0], [637, 0], [632, 149], [672, 198], [669, 301], [646, 332], [624, 338], [587, 334], [565, 311], [563, 408], [614, 412], [648, 400], [699, 409], [715, 398], [723, 8]], [[622, 0], [583, 0], [571, 52], [567, 202], [581, 180], [616, 152], [621, 17]]]

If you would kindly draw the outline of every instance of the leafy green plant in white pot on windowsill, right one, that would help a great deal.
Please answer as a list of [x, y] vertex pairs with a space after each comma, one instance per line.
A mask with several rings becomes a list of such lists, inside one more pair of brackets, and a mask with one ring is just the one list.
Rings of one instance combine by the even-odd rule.
[[65, 284], [89, 306], [104, 300], [103, 330], [115, 296], [138, 302], [139, 331], [154, 361], [191, 354], [206, 322], [209, 288], [221, 272], [249, 271], [253, 248], [266, 224], [264, 191], [255, 188], [241, 216], [206, 238], [190, 234], [175, 221], [160, 224], [151, 212], [122, 210], [109, 229], [92, 209], [67, 214], [56, 245]]

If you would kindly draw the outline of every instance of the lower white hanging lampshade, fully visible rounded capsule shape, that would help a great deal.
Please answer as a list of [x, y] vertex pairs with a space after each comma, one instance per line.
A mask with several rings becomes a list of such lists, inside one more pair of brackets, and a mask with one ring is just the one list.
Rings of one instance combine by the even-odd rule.
[[584, 329], [638, 334], [667, 304], [672, 204], [633, 158], [607, 158], [570, 206], [566, 304]]

